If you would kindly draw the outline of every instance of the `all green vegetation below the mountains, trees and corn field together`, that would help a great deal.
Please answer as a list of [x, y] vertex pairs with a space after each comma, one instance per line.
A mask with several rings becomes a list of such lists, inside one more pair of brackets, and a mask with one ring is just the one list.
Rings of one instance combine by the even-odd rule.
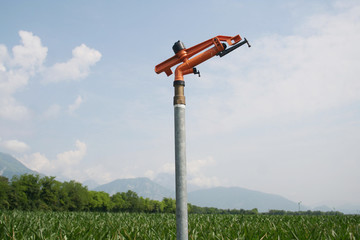
[[[176, 239], [175, 206], [54, 177], [0, 176], [0, 239]], [[188, 207], [189, 239], [360, 239], [359, 215]]]

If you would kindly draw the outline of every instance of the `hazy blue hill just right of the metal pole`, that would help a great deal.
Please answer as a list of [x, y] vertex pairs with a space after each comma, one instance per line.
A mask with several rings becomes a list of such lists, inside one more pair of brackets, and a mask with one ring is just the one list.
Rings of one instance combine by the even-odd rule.
[[297, 211], [298, 204], [282, 196], [268, 194], [240, 187], [216, 187], [190, 192], [189, 202], [200, 207], [220, 209], [257, 208], [259, 212], [271, 209]]

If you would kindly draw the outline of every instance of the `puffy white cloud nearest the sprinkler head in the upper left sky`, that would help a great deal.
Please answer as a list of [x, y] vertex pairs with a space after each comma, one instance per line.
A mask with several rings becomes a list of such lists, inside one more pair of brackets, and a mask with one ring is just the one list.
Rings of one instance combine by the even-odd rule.
[[88, 76], [90, 67], [101, 59], [101, 53], [85, 44], [74, 48], [73, 57], [64, 63], [56, 63], [44, 72], [46, 82], [83, 79]]

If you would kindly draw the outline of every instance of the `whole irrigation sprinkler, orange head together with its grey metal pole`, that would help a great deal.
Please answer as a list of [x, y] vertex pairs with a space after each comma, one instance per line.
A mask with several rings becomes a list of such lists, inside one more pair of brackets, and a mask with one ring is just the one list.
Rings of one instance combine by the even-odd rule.
[[[155, 66], [157, 74], [165, 72], [170, 76], [171, 68], [179, 63], [175, 69], [174, 79], [174, 123], [175, 123], [175, 184], [176, 184], [176, 239], [188, 239], [188, 213], [187, 213], [187, 184], [186, 184], [186, 139], [185, 139], [185, 95], [184, 75], [198, 74], [195, 68], [206, 60], [219, 56], [223, 57], [238, 47], [249, 42], [240, 35], [234, 37], [216, 36], [193, 47], [186, 48], [181, 41], [173, 46], [175, 55]], [[226, 43], [231, 46], [227, 49]], [[212, 47], [213, 46], [213, 47]], [[210, 48], [211, 47], [211, 48]]]

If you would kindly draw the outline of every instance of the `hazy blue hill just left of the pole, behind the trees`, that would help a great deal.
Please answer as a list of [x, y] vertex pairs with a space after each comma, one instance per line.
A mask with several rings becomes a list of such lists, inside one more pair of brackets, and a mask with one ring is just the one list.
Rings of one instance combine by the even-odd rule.
[[113, 195], [117, 192], [136, 192], [139, 196], [153, 200], [162, 200], [164, 197], [175, 198], [173, 191], [151, 181], [148, 178], [117, 179], [107, 184], [97, 186], [94, 191], [104, 191]]

